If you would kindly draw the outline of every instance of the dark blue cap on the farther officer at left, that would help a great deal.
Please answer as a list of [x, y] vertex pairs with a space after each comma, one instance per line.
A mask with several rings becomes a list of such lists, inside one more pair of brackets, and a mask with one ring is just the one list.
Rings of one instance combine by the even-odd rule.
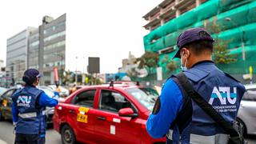
[[42, 74], [39, 73], [38, 70], [28, 69], [24, 72], [22, 80], [27, 84], [32, 84], [37, 80], [37, 78], [41, 78]]

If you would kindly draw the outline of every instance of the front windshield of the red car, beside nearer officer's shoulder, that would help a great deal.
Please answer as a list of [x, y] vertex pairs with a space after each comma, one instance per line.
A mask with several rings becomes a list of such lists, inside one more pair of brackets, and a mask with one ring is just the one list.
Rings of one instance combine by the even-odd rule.
[[148, 110], [152, 111], [154, 102], [158, 98], [158, 93], [151, 88], [132, 88], [126, 90], [130, 95], [138, 100]]

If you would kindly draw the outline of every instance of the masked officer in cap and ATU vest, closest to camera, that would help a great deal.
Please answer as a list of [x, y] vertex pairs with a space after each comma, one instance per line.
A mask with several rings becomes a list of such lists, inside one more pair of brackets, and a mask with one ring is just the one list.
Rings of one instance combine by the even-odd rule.
[[[214, 65], [213, 43], [214, 39], [202, 28], [186, 30], [178, 37], [178, 52], [174, 58], [181, 58], [183, 73], [194, 90], [232, 123], [237, 117], [245, 87]], [[150, 136], [166, 136], [167, 143], [227, 143], [229, 135], [226, 131], [193, 100], [185, 99], [185, 94], [174, 77], [166, 80], [146, 122]]]

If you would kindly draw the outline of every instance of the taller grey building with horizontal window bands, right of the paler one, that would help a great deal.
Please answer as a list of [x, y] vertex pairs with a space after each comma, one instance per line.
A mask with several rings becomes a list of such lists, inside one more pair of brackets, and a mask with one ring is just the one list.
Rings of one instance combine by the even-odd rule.
[[66, 14], [56, 19], [45, 16], [42, 25], [30, 32], [28, 43], [28, 66], [44, 75], [40, 84], [54, 84], [54, 67], [61, 79], [66, 58]]

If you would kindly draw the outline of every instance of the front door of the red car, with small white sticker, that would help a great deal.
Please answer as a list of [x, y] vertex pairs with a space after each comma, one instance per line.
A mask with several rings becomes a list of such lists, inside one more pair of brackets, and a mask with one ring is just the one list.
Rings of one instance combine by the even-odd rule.
[[142, 125], [138, 118], [118, 115], [118, 110], [126, 107], [138, 111], [117, 91], [101, 90], [94, 119], [98, 143], [141, 143]]

